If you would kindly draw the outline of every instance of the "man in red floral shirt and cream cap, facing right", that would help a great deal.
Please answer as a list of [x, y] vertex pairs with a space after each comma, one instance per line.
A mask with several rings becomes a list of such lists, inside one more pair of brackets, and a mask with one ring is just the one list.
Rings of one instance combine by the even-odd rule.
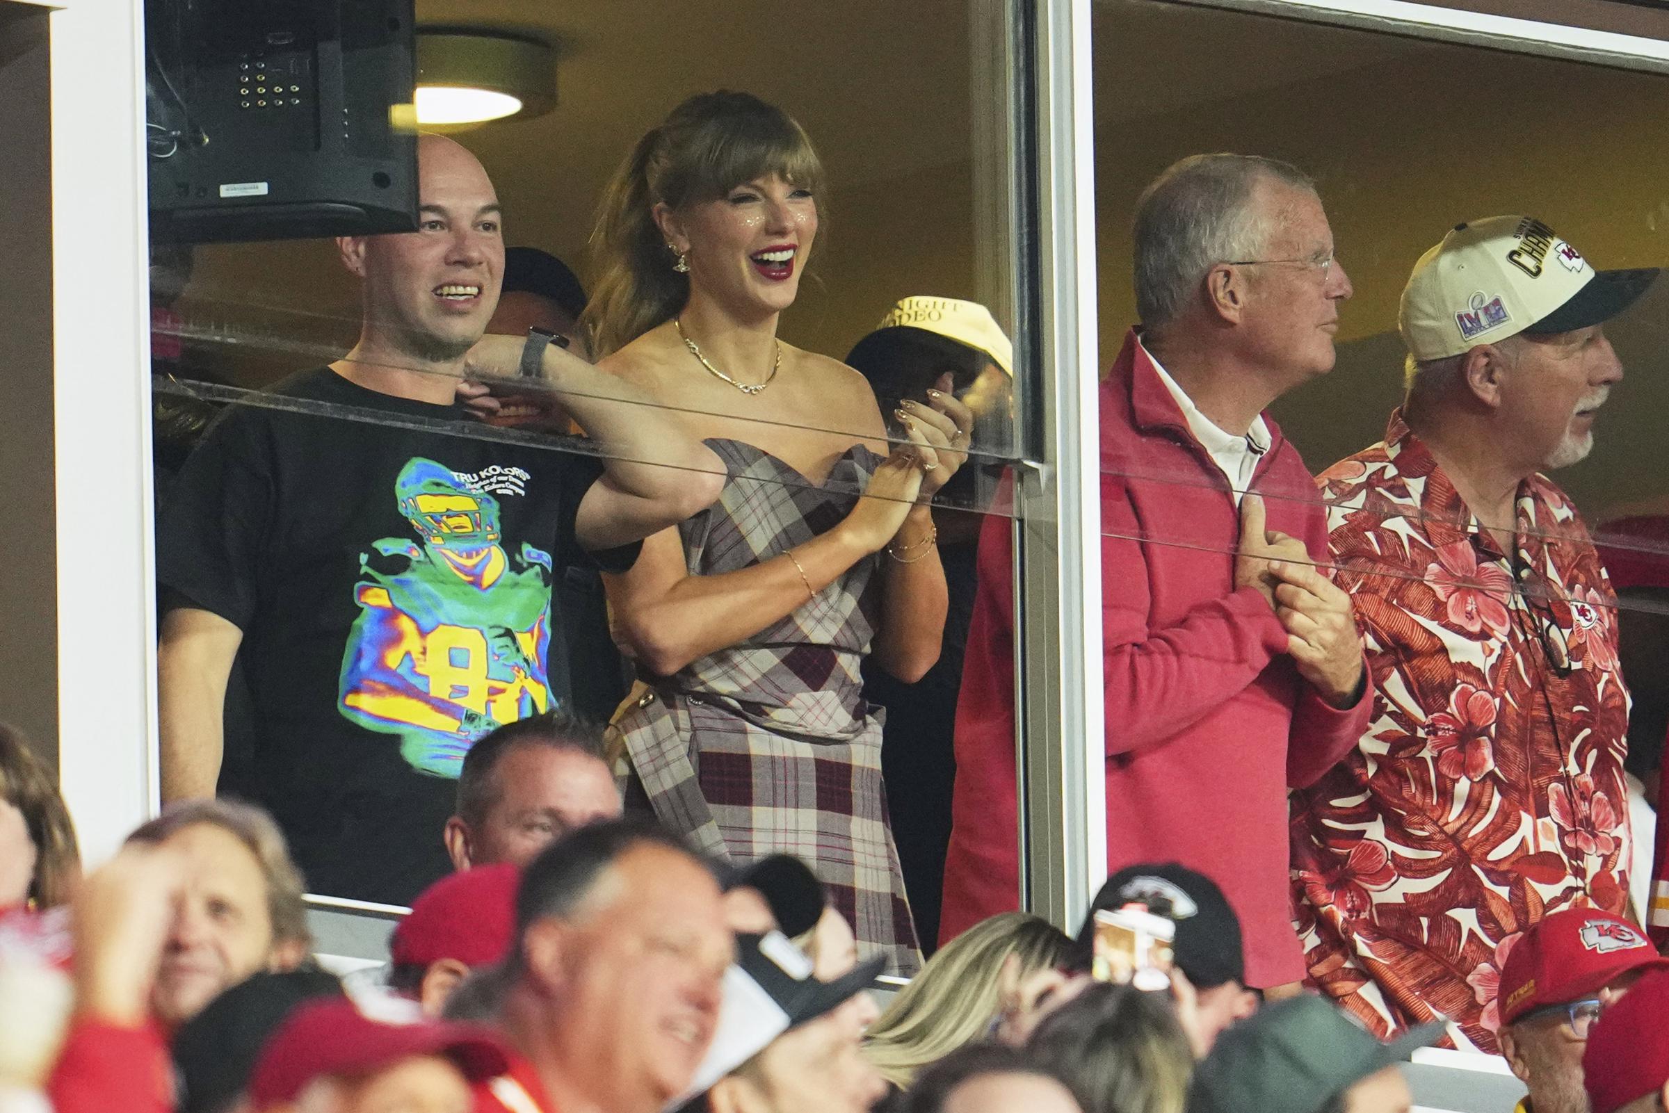
[[1529, 217], [1455, 227], [1402, 294], [1404, 407], [1322, 474], [1377, 694], [1292, 798], [1293, 896], [1310, 981], [1380, 1035], [1447, 1016], [1495, 1051], [1519, 934], [1627, 908], [1616, 599], [1539, 472], [1592, 447], [1622, 379], [1602, 322], [1656, 274], [1596, 274]]

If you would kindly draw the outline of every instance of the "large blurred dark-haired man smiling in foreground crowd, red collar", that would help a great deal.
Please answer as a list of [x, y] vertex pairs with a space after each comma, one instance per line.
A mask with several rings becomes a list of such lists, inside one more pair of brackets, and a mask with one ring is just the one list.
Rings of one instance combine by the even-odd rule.
[[656, 826], [594, 823], [527, 866], [499, 1008], [496, 1113], [659, 1113], [713, 1040], [734, 954], [706, 863]]

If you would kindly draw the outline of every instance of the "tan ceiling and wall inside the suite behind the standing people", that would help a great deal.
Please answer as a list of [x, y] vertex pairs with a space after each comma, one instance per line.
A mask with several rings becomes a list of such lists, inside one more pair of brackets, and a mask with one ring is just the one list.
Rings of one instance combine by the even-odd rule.
[[[833, 237], [784, 335], [841, 355], [893, 299], [976, 297], [990, 279], [978, 272], [970, 132], [973, 105], [986, 103], [975, 80], [993, 75], [970, 63], [970, 12], [993, 3], [419, 0], [417, 10], [429, 23], [467, 17], [556, 47], [556, 110], [462, 140], [497, 182], [511, 240], [576, 262], [604, 180], [683, 97], [746, 88], [799, 117], [828, 164]], [[1152, 0], [1097, 0], [1093, 55], [1105, 344], [1133, 312], [1127, 229], [1153, 174], [1198, 150], [1250, 150], [1317, 175], [1357, 295], [1339, 369], [1278, 412], [1322, 464], [1382, 431], [1395, 399], [1397, 292], [1454, 220], [1530, 210], [1601, 265], [1669, 257], [1666, 78]], [[1634, 404], [1611, 422], [1636, 427], [1572, 474], [1584, 499], [1662, 489], [1652, 459], [1624, 446], [1649, 437], [1669, 405], [1669, 375], [1651, 365], [1666, 299], [1669, 287], [1616, 330]], [[245, 244], [200, 252], [185, 309], [245, 329], [215, 359], [262, 382], [309, 359], [290, 344], [300, 334], [350, 339], [354, 302], [329, 244]], [[264, 332], [249, 332], [250, 320]]]

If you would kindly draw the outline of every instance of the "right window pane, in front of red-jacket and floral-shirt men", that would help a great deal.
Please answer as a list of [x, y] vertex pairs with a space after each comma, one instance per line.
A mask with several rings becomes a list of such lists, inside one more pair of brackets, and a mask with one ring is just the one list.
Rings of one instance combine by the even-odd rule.
[[[1642, 25], [1654, 18], [1641, 12], [1631, 30], [1654, 33]], [[1651, 422], [1666, 400], [1652, 365], [1669, 289], [1592, 319], [1552, 312], [1594, 269], [1669, 255], [1669, 167], [1654, 138], [1669, 78], [1646, 72], [1649, 58], [1601, 67], [1195, 5], [1105, 0], [1097, 20], [1102, 339], [1117, 427], [1103, 442], [1112, 864], [1140, 844], [1222, 873], [1243, 903], [1253, 985], [1307, 975], [1380, 1031], [1422, 1018], [1409, 1005], [1419, 1000], [1494, 1051], [1492, 980], [1510, 939], [1572, 899], [1624, 913], [1631, 868], [1636, 904], [1649, 873], [1649, 843], [1631, 841], [1626, 816], [1641, 789], [1624, 778], [1624, 734], [1627, 771], [1656, 779], [1669, 489]], [[1168, 287], [1142, 280], [1152, 359], [1115, 367], [1142, 317], [1138, 199], [1205, 152], [1292, 164], [1325, 215], [1305, 189], [1258, 194], [1290, 204], [1202, 247], [1210, 259], [1187, 264], [1177, 314], [1165, 315]], [[1235, 205], [1222, 197], [1235, 195], [1202, 194], [1225, 227]], [[1412, 417], [1390, 424], [1407, 399], [1399, 305], [1410, 272], [1462, 222], [1454, 235], [1482, 237], [1500, 214], [1539, 224], [1507, 220], [1475, 254], [1444, 255], [1467, 260], [1464, 272], [1419, 287], [1437, 307], [1422, 335], [1447, 329], [1457, 347], [1420, 349]], [[1200, 242], [1202, 227], [1178, 242]], [[1545, 294], [1544, 274], [1566, 285]], [[1556, 320], [1556, 339], [1477, 355]], [[1469, 350], [1475, 359], [1449, 359]], [[1369, 447], [1387, 437], [1389, 449]], [[1322, 489], [1293, 457], [1280, 462], [1282, 441], [1325, 472]], [[1329, 734], [1342, 719], [1319, 719], [1314, 704], [1345, 703], [1352, 674], [1287, 642], [1317, 631], [1302, 612], [1319, 596], [1235, 594], [1247, 489], [1262, 491], [1273, 529], [1307, 542], [1288, 559], [1350, 592], [1375, 694], [1349, 736]], [[1237, 641], [1260, 629], [1267, 646]], [[1202, 662], [1207, 649], [1222, 651], [1215, 664]], [[1252, 664], [1232, 674], [1228, 661]], [[1198, 779], [1185, 794], [1212, 799], [1210, 824], [1178, 824], [1195, 813], [1143, 791], [1182, 769], [1188, 746]], [[1290, 864], [1302, 961], [1280, 891], [1288, 786], [1300, 789]]]

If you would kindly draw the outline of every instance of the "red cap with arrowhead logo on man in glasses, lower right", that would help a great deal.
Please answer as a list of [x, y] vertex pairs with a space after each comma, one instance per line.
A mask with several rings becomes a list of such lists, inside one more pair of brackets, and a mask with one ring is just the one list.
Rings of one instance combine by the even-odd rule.
[[1524, 933], [1500, 969], [1500, 1023], [1544, 1005], [1569, 1005], [1612, 980], [1669, 966], [1639, 928], [1597, 908], [1566, 908]]

